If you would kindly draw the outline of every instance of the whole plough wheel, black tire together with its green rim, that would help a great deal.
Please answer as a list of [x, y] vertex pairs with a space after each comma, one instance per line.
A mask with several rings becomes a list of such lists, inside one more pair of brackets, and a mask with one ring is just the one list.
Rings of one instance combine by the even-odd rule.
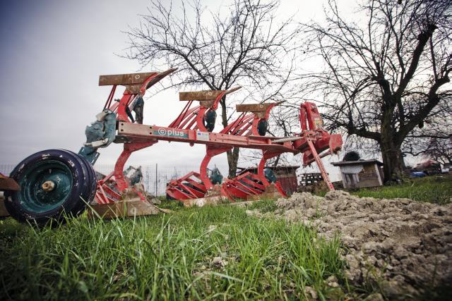
[[64, 214], [81, 214], [95, 195], [93, 167], [64, 149], [32, 154], [14, 168], [10, 177], [20, 190], [6, 192], [5, 207], [21, 222], [64, 221]]

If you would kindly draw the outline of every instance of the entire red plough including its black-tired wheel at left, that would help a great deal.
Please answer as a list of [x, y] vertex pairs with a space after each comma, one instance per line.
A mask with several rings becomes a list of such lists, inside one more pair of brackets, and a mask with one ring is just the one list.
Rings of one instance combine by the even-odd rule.
[[[268, 159], [286, 152], [302, 153], [304, 166], [315, 161], [328, 188], [334, 189], [321, 158], [338, 152], [342, 147], [342, 138], [340, 135], [330, 135], [323, 129], [321, 116], [313, 103], [305, 102], [300, 106], [301, 132], [295, 137], [266, 135], [270, 111], [280, 103], [239, 104], [236, 106], [237, 112], [241, 113], [239, 117], [215, 133], [219, 102], [225, 101], [228, 94], [240, 87], [231, 90], [180, 92], [179, 101], [186, 102], [186, 105], [172, 123], [167, 127], [142, 124], [143, 95], [146, 90], [174, 71], [175, 69], [169, 69], [161, 73], [101, 75], [99, 85], [111, 85], [112, 90], [102, 112], [97, 114], [96, 121], [86, 128], [87, 140], [84, 146], [78, 154], [64, 149], [48, 149], [20, 162], [11, 173], [11, 178], [20, 183], [21, 189], [26, 192], [7, 193], [6, 207], [12, 212], [11, 216], [20, 221], [33, 219], [37, 223], [45, 223], [48, 219], [61, 219], [63, 211], [76, 216], [93, 199], [98, 204], [105, 204], [105, 208], [118, 204], [119, 211], [121, 202], [118, 201], [125, 195], [133, 195], [131, 199], [139, 197], [145, 201], [142, 185], [127, 178], [124, 165], [133, 152], [150, 147], [160, 140], [206, 145], [206, 155], [199, 171], [188, 173], [167, 185], [167, 195], [190, 204], [193, 204], [193, 199], [206, 197], [234, 201], [237, 198], [256, 199], [267, 194], [272, 197], [285, 196], [278, 182], [270, 183], [274, 179], [269, 181], [266, 178], [264, 168]], [[118, 86], [124, 86], [125, 90], [121, 99], [114, 99]], [[99, 156], [97, 149], [108, 147], [112, 142], [123, 144], [124, 148], [114, 165], [114, 171], [97, 180], [93, 169]], [[208, 173], [210, 160], [234, 147], [261, 149], [262, 159], [257, 173], [240, 174], [222, 183], [222, 179], [212, 180]], [[59, 181], [55, 182], [55, 179]], [[29, 200], [25, 195], [34, 199]], [[47, 199], [52, 199], [52, 202], [47, 202]], [[131, 202], [139, 202], [136, 208], [143, 209], [143, 202]], [[37, 211], [33, 211], [35, 208]], [[145, 209], [154, 210], [148, 207]]]

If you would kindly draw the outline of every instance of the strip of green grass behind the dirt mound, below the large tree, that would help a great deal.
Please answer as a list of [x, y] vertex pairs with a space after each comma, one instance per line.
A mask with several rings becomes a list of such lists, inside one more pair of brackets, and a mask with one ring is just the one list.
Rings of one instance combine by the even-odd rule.
[[417, 178], [408, 180], [401, 185], [352, 190], [350, 194], [358, 197], [376, 197], [380, 199], [406, 197], [418, 202], [447, 204], [451, 202], [452, 197], [452, 176]]

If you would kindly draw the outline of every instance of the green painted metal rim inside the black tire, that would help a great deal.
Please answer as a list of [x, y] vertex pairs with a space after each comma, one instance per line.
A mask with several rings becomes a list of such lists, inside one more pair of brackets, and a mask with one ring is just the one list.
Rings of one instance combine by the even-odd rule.
[[[52, 181], [54, 188], [45, 191], [42, 184]], [[30, 212], [42, 213], [61, 206], [72, 190], [71, 168], [61, 161], [46, 160], [23, 171], [19, 180], [18, 201]]]

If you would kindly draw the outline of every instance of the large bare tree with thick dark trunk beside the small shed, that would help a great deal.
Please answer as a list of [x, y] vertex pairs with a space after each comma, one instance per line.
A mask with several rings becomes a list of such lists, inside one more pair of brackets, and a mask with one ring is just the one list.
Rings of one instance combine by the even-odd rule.
[[310, 88], [323, 94], [329, 129], [379, 145], [389, 181], [405, 138], [450, 101], [451, 1], [367, 0], [358, 16], [345, 20], [331, 0], [326, 23], [306, 24], [325, 63]]

